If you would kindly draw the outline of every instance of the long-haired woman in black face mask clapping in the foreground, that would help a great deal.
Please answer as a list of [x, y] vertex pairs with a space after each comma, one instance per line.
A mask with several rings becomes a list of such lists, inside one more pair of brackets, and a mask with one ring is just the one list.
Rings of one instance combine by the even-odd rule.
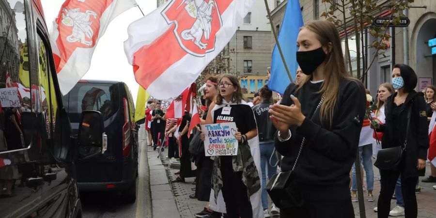
[[365, 114], [365, 89], [345, 70], [341, 40], [330, 22], [304, 26], [297, 46], [297, 62], [308, 77], [298, 86], [291, 83], [281, 105], [269, 112], [279, 130], [275, 146], [283, 156], [281, 170], [291, 171], [299, 156], [293, 173], [304, 203], [280, 208], [280, 217], [354, 218], [349, 172]]

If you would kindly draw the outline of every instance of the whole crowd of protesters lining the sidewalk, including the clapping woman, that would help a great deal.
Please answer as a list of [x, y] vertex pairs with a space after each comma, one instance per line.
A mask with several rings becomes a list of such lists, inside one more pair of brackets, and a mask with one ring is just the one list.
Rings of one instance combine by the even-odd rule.
[[[364, 200], [378, 199], [379, 218], [416, 218], [420, 183], [436, 183], [436, 168], [427, 161], [436, 87], [416, 92], [414, 70], [396, 64], [392, 83], [381, 84], [373, 98], [346, 71], [339, 34], [327, 21], [305, 25], [297, 45], [296, 80], [280, 99], [267, 85], [252, 100], [245, 98], [238, 78], [225, 74], [182, 93], [179, 98], [194, 97], [184, 98], [191, 109], [182, 105], [178, 118], [172, 110], [180, 107], [161, 107], [157, 99], [147, 103], [148, 145], [180, 158], [171, 182], [195, 177], [189, 198], [204, 202], [195, 217], [355, 217], [357, 180], [365, 174]], [[207, 155], [214, 149], [205, 145], [219, 143], [211, 135], [219, 131], [210, 130], [225, 124], [237, 152], [220, 156], [215, 149]], [[420, 181], [426, 164], [431, 174]], [[379, 193], [373, 191], [374, 174], [381, 178]]]

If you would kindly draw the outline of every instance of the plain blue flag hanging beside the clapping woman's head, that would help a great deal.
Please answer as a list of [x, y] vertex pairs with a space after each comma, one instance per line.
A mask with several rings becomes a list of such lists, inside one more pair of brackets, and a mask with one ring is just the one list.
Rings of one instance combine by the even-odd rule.
[[[303, 26], [303, 16], [301, 16], [299, 0], [288, 0], [286, 11], [283, 16], [279, 33], [279, 43], [283, 56], [288, 65], [289, 72], [295, 79], [298, 63], [296, 62], [296, 40], [300, 27]], [[286, 73], [283, 61], [280, 57], [279, 48], [274, 47], [271, 61], [271, 78], [268, 81], [268, 88], [283, 94], [291, 80]]]

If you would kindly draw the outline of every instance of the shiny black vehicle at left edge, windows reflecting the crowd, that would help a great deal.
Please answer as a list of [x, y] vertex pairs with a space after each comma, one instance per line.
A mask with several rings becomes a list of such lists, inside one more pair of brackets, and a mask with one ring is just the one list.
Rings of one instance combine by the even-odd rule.
[[0, 0], [0, 217], [81, 217], [40, 0]]

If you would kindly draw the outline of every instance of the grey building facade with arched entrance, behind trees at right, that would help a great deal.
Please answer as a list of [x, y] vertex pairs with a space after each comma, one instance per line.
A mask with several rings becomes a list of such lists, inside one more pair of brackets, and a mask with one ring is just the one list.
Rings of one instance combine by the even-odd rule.
[[[280, 24], [286, 9], [288, 0], [278, 1], [272, 10], [273, 24], [276, 30]], [[390, 16], [387, 8], [390, 0], [379, 0], [380, 10], [374, 12], [374, 16]], [[300, 0], [301, 12], [304, 23], [311, 20], [324, 19], [320, 15], [328, 9], [329, 5], [321, 0]], [[403, 14], [410, 19], [410, 24], [405, 28], [389, 28], [388, 32], [394, 36], [389, 42], [389, 48], [383, 54], [375, 56], [375, 51], [365, 48], [365, 59], [367, 66], [374, 59], [365, 78], [365, 85], [375, 95], [379, 85], [391, 81], [392, 67], [396, 63], [410, 65], [418, 75], [419, 82], [417, 90], [422, 90], [428, 84], [434, 84], [436, 79], [436, 1], [415, 0], [409, 4], [410, 8], [403, 11]], [[339, 15], [339, 11], [335, 15]], [[340, 17], [340, 16], [338, 16]], [[343, 32], [340, 32], [343, 35]], [[343, 45], [344, 45], [343, 37]], [[357, 67], [358, 55], [355, 51], [356, 40], [351, 32], [348, 37], [352, 67]], [[371, 34], [364, 35], [364, 44], [374, 42]], [[275, 45], [274, 37], [271, 35], [271, 48]], [[359, 56], [360, 57], [360, 56]], [[360, 57], [361, 58], [361, 57]], [[356, 76], [353, 70], [353, 76]]]

